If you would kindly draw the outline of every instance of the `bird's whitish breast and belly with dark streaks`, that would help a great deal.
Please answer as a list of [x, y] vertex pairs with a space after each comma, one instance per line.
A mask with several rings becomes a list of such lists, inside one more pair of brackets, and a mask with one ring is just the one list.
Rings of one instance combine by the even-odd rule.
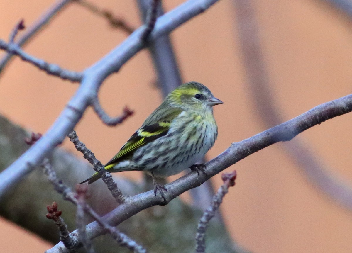
[[171, 123], [168, 133], [141, 147], [133, 155], [134, 163], [156, 177], [180, 173], [199, 162], [218, 136], [213, 115], [187, 115]]

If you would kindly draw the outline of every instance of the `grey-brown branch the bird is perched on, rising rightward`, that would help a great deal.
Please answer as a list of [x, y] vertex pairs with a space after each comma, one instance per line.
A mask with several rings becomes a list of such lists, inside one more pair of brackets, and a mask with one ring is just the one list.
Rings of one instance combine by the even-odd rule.
[[[183, 192], [201, 185], [208, 179], [208, 177], [213, 177], [222, 170], [225, 170], [227, 167], [230, 167], [231, 165], [259, 150], [262, 150], [265, 147], [280, 141], [289, 141], [297, 134], [309, 129], [310, 127], [319, 125], [328, 119], [332, 119], [336, 116], [340, 116], [351, 111], [352, 95], [348, 95], [316, 106], [294, 119], [256, 134], [253, 137], [242, 140], [238, 143], [232, 143], [227, 150], [206, 163], [206, 172], [208, 176], [203, 173], [197, 175], [196, 171], [190, 172], [174, 182], [165, 185], [167, 186], [168, 194], [172, 200], [181, 195]], [[352, 196], [352, 192], [350, 192], [350, 196]], [[352, 201], [352, 198], [350, 198], [350, 201]], [[131, 201], [120, 204], [113, 211], [103, 216], [103, 219], [105, 219], [105, 221], [112, 226], [117, 226], [122, 221], [127, 220], [138, 212], [152, 207], [153, 205], [160, 204], [164, 203], [159, 197], [155, 196], [154, 191], [147, 191], [131, 197]], [[89, 231], [89, 239], [93, 239], [105, 233], [103, 229], [94, 223], [87, 225], [87, 231]], [[48, 253], [54, 252], [64, 253], [67, 251], [61, 243], [58, 243], [52, 249], [48, 250]]]

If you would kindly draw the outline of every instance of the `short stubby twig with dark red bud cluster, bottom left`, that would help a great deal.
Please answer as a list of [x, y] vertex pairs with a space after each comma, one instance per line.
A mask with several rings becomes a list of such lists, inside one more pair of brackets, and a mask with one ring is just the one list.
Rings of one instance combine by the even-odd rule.
[[53, 220], [59, 229], [60, 241], [62, 241], [66, 248], [73, 249], [77, 244], [77, 239], [74, 236], [71, 236], [68, 232], [67, 225], [61, 218], [62, 212], [61, 210], [57, 209], [57, 203], [54, 202], [52, 205], [46, 206], [46, 209], [48, 209], [46, 217], [50, 220]]

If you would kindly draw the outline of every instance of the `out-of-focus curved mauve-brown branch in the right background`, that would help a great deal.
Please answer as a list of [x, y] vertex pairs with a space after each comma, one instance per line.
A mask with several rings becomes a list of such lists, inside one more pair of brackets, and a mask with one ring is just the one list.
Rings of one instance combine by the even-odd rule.
[[[257, 115], [266, 127], [277, 125], [283, 120], [277, 106], [274, 105], [275, 98], [271, 93], [270, 78], [261, 52], [253, 1], [234, 0], [234, 7], [237, 12], [239, 40], [247, 80], [254, 105], [257, 107]], [[287, 154], [300, 165], [310, 181], [332, 197], [335, 202], [352, 209], [351, 186], [331, 175], [329, 171], [332, 170], [326, 168], [320, 162], [321, 159], [314, 156], [310, 148], [304, 146], [299, 139], [287, 143], [284, 147]]]

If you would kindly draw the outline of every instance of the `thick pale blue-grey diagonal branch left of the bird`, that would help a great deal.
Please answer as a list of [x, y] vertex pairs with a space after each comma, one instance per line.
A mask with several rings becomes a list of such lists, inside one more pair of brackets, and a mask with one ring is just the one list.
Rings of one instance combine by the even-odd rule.
[[[148, 37], [148, 43], [170, 33], [196, 15], [204, 13], [215, 2], [217, 0], [188, 0], [164, 14], [156, 21], [154, 30]], [[48, 132], [0, 174], [0, 200], [11, 186], [31, 172], [57, 144], [62, 143], [65, 136], [81, 119], [90, 101], [96, 97], [105, 78], [119, 71], [128, 59], [143, 49], [145, 43], [141, 40], [141, 36], [144, 30], [145, 25], [134, 31], [124, 42], [83, 72], [81, 85]]]

